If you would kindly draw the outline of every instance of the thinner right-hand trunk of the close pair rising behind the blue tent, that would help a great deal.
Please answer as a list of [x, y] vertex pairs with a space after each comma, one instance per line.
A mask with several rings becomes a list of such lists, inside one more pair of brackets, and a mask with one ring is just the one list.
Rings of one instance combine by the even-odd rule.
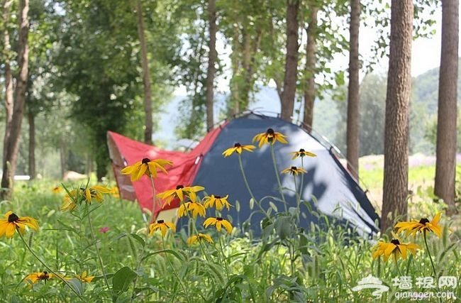
[[313, 123], [313, 102], [316, 99], [316, 31], [317, 31], [317, 13], [318, 8], [311, 6], [311, 16], [309, 25], [306, 28], [306, 67], [304, 75], [306, 77], [306, 86], [304, 87], [304, 125], [308, 131], [312, 129]]

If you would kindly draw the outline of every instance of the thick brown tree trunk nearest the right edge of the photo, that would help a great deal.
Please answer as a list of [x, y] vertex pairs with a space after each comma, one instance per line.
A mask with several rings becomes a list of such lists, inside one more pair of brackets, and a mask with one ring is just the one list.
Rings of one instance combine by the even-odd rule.
[[458, 17], [459, 1], [443, 0], [434, 193], [448, 204], [448, 214], [456, 212], [457, 74], [460, 39]]

